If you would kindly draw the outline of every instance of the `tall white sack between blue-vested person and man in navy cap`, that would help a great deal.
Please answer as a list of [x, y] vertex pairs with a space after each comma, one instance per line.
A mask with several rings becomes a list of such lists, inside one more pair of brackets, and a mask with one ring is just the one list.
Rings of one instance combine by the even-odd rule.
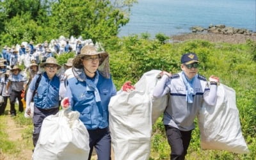
[[[109, 130], [116, 160], [148, 160], [150, 156], [150, 138], [152, 134], [152, 111], [154, 102], [154, 120], [166, 107], [164, 100], [152, 99], [152, 92], [161, 71], [152, 70], [141, 77], [132, 92], [118, 92], [109, 102]], [[153, 102], [154, 101], [154, 102]], [[161, 103], [163, 101], [163, 106]], [[159, 109], [161, 111], [159, 111]]]

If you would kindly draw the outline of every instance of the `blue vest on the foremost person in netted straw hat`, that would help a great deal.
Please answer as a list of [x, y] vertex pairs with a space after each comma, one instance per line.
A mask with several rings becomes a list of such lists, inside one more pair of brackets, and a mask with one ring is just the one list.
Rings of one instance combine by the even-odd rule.
[[68, 79], [68, 99], [72, 99], [72, 110], [80, 113], [79, 118], [86, 129], [108, 127], [108, 104], [110, 98], [116, 94], [116, 88], [112, 79], [99, 75], [97, 89], [100, 95], [99, 102], [95, 100], [94, 91], [86, 90], [86, 81], [78, 81], [76, 77]]

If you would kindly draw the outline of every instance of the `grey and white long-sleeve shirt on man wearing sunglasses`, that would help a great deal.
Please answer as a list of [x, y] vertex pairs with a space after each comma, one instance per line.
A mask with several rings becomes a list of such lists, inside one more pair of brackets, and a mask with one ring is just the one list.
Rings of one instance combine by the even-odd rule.
[[186, 101], [186, 85], [181, 72], [170, 79], [164, 75], [156, 88], [154, 97], [163, 97], [169, 94], [168, 106], [164, 111], [164, 125], [170, 125], [181, 131], [190, 131], [195, 128], [194, 120], [202, 102], [213, 106], [216, 103], [217, 86], [211, 85], [211, 90], [204, 76], [196, 75], [194, 83], [193, 103]]

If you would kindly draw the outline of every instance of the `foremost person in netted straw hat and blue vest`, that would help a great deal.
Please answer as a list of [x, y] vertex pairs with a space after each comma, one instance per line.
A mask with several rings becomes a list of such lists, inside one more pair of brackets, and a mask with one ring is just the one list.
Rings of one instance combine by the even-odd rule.
[[68, 79], [67, 97], [70, 108], [81, 113], [79, 118], [90, 134], [88, 159], [93, 147], [99, 160], [111, 159], [108, 104], [116, 88], [109, 75], [108, 52], [86, 45], [74, 58], [72, 70], [74, 77]]

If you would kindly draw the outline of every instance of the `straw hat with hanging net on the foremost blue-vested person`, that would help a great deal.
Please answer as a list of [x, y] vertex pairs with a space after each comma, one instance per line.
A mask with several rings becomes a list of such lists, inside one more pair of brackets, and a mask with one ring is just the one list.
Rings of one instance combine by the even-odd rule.
[[85, 45], [81, 49], [81, 54], [78, 54], [73, 60], [73, 66], [75, 68], [83, 68], [83, 58], [84, 56], [93, 56], [99, 55], [99, 72], [102, 76], [109, 78], [110, 77], [110, 69], [109, 69], [109, 56], [108, 52], [105, 51], [97, 51], [97, 49], [93, 45]]

